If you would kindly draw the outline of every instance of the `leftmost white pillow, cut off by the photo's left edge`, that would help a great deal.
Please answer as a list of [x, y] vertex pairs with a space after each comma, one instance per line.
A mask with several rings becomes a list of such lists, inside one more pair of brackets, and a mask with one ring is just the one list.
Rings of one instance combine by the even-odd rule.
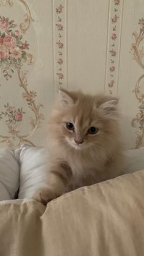
[[20, 181], [19, 152], [0, 148], [0, 201], [15, 199]]

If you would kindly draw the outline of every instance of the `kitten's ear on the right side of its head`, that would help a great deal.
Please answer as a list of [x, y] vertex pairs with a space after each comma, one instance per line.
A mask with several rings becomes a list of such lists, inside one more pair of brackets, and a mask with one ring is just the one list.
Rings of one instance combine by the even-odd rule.
[[101, 104], [99, 104], [99, 108], [101, 108], [107, 117], [117, 117], [118, 115], [118, 98], [117, 97], [109, 97], [106, 96], [101, 100]]

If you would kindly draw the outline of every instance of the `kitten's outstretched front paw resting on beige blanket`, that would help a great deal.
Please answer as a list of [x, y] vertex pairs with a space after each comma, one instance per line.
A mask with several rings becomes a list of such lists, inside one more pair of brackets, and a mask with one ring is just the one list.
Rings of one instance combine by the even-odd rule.
[[46, 205], [48, 202], [56, 199], [57, 197], [59, 197], [59, 195], [49, 188], [41, 188], [34, 195], [34, 199], [40, 203], [43, 203], [43, 205]]

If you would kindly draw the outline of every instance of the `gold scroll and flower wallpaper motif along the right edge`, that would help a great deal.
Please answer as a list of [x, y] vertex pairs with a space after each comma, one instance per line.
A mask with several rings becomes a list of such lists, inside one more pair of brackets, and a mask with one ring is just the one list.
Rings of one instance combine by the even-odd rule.
[[[133, 59], [136, 60], [137, 64], [144, 69], [143, 56], [144, 49], [140, 43], [144, 38], [144, 19], [139, 20], [140, 30], [139, 32], [134, 31], [132, 33], [134, 37], [134, 43], [131, 45], [131, 51], [133, 55]], [[144, 78], [144, 74], [140, 76], [135, 84], [135, 88], [132, 92], [135, 93], [135, 97], [139, 101], [140, 105], [138, 106], [138, 111], [134, 119], [132, 119], [131, 125], [136, 128], [138, 125], [138, 130], [135, 132], [136, 134], [136, 142], [135, 148], [139, 148], [143, 143], [144, 137], [144, 94], [142, 93], [142, 89], [140, 84], [142, 84], [142, 80]]]

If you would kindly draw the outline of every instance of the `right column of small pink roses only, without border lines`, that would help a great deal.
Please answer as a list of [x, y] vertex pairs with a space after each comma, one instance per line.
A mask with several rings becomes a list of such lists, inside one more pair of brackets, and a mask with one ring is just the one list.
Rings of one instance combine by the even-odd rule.
[[109, 48], [109, 81], [107, 82], [109, 93], [112, 94], [113, 87], [115, 86], [115, 70], [116, 70], [116, 57], [117, 57], [117, 26], [120, 13], [120, 0], [113, 0], [112, 16], [110, 17], [110, 48]]

